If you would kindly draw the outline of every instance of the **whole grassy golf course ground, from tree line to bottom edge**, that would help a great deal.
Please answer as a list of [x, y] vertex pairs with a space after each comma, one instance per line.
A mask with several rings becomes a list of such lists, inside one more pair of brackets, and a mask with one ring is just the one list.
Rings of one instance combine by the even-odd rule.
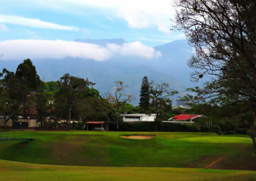
[[[122, 135], [156, 136], [136, 140]], [[10, 138], [0, 142], [0, 180], [33, 180], [39, 175], [49, 180], [256, 179], [252, 140], [244, 135], [8, 131], [0, 138]]]

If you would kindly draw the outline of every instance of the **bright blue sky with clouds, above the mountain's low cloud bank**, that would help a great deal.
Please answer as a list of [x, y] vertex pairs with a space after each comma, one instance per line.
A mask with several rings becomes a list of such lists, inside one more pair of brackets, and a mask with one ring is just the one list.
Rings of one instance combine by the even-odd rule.
[[0, 41], [124, 38], [143, 45], [185, 39], [170, 31], [173, 2], [0, 0]]

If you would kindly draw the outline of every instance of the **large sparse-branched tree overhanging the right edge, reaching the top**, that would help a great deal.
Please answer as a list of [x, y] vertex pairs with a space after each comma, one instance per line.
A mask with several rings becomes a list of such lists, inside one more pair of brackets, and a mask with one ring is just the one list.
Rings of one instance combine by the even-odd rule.
[[[195, 47], [189, 66], [198, 80], [212, 81], [199, 96], [250, 114], [252, 141], [256, 152], [256, 1], [180, 0], [176, 29], [182, 29]], [[237, 112], [238, 113], [238, 112]]]

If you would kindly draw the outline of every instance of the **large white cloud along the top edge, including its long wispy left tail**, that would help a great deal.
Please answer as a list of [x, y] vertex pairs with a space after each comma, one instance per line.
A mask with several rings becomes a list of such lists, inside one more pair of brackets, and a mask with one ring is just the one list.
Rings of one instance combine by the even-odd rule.
[[38, 0], [31, 3], [40, 4], [54, 10], [69, 11], [71, 8], [77, 12], [83, 8], [97, 8], [107, 14], [107, 17], [124, 19], [129, 27], [143, 29], [156, 27], [158, 31], [169, 33], [170, 18], [175, 13], [174, 0], [148, 1], [148, 0]]

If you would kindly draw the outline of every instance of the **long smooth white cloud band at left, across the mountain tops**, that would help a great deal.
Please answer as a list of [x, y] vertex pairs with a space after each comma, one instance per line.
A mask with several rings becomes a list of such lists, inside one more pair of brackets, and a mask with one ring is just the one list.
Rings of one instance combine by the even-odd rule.
[[108, 50], [98, 45], [63, 40], [0, 41], [0, 50], [8, 60], [78, 57], [104, 61], [110, 57]]

